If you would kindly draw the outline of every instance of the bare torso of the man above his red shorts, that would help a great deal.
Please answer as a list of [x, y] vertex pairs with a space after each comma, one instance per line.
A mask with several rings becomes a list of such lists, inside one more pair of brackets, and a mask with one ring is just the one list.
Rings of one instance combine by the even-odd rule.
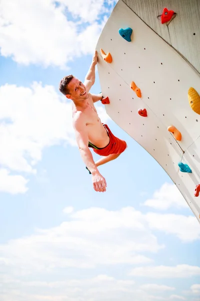
[[81, 111], [85, 117], [84, 122], [86, 124], [89, 141], [97, 147], [105, 147], [109, 143], [109, 136], [98, 117], [91, 94], [88, 93], [88, 95], [89, 97], [86, 100], [84, 108], [72, 104], [72, 117], [75, 116], [76, 112]]

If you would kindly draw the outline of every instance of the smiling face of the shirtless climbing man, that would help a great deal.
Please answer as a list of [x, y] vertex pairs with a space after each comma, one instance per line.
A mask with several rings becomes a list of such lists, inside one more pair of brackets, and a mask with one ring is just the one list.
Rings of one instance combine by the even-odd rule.
[[70, 98], [74, 101], [80, 101], [88, 98], [88, 94], [85, 90], [85, 86], [83, 83], [77, 79], [72, 78], [72, 80], [68, 83], [68, 91], [69, 94], [66, 95], [67, 98]]

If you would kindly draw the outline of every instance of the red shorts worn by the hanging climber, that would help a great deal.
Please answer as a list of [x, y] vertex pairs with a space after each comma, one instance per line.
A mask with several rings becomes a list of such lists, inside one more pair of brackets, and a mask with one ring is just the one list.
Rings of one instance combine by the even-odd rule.
[[109, 143], [107, 144], [107, 146], [100, 149], [93, 148], [94, 153], [98, 154], [99, 156], [108, 156], [110, 154], [123, 153], [127, 146], [126, 142], [124, 140], [115, 137], [110, 131], [107, 124], [103, 124], [103, 126], [107, 130], [107, 134], [109, 136]]

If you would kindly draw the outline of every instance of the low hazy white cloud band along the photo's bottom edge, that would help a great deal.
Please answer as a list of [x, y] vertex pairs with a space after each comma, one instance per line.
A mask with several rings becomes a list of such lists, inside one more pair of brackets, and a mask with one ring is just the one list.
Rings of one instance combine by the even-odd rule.
[[[19, 277], [20, 278], [20, 277]], [[6, 292], [3, 301], [100, 301], [117, 300], [152, 301], [173, 299], [184, 300], [179, 295], [151, 295], [137, 289], [133, 280], [121, 280], [106, 274], [84, 279], [66, 279], [64, 281], [28, 281], [9, 278], [4, 275], [3, 287]], [[20, 287], [20, 290], [18, 289]], [[37, 294], [36, 294], [37, 293]]]

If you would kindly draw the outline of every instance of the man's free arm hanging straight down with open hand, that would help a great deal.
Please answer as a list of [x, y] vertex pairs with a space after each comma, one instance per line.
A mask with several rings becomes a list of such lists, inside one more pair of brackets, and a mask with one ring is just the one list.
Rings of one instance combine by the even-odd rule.
[[78, 144], [80, 156], [92, 175], [92, 183], [95, 191], [104, 192], [106, 191], [106, 181], [103, 176], [99, 173], [94, 161], [92, 154], [88, 147], [88, 135], [86, 130], [86, 124], [84, 117], [79, 114], [73, 121], [73, 127], [75, 130], [75, 137]]

